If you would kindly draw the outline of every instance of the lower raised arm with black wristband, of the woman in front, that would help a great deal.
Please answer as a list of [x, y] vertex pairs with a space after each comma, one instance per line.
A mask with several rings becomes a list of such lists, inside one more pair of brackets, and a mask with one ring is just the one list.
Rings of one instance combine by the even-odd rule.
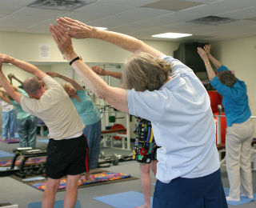
[[[78, 57], [74, 52], [71, 38], [62, 30], [60, 26], [50, 25], [50, 33], [57, 43], [58, 49], [62, 52], [63, 57], [70, 62]], [[128, 102], [126, 97], [126, 90], [108, 86], [85, 62], [77, 59], [72, 63], [72, 68], [76, 71], [78, 76], [82, 78], [86, 87], [91, 90], [98, 98], [104, 99], [114, 108], [123, 112], [129, 113]]]

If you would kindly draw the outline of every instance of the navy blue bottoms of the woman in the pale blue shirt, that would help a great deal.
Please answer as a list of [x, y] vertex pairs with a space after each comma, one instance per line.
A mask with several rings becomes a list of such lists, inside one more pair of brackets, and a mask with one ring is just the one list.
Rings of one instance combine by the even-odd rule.
[[170, 183], [156, 182], [154, 208], [226, 208], [221, 171], [200, 178], [175, 178]]

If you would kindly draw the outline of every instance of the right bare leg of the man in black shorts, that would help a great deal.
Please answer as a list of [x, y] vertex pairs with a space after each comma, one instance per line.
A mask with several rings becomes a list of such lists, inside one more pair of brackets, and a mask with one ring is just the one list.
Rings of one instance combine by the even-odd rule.
[[66, 194], [64, 199], [64, 208], [72, 208], [78, 198], [78, 180], [81, 175], [67, 175], [66, 177]]

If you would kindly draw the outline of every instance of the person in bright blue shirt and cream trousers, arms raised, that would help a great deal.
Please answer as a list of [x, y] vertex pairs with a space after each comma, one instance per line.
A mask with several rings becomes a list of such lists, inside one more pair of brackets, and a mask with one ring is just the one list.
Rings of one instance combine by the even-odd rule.
[[[245, 82], [223, 66], [212, 54], [210, 45], [198, 48], [198, 54], [206, 64], [210, 84], [222, 94], [226, 114], [226, 170], [230, 182], [228, 201], [240, 201], [240, 196], [254, 198], [250, 165], [250, 148], [254, 137], [254, 122], [250, 118], [250, 106]], [[216, 75], [210, 62], [218, 69]], [[241, 191], [242, 190], [242, 191]]]

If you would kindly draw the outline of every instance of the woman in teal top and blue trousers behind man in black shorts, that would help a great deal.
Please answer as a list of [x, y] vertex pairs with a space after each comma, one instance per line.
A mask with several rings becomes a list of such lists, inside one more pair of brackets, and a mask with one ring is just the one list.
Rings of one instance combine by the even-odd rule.
[[52, 78], [62, 78], [67, 83], [62, 84], [66, 93], [70, 96], [71, 101], [74, 103], [76, 110], [78, 111], [79, 117], [82, 119], [83, 124], [86, 128], [83, 133], [86, 135], [89, 147], [89, 168], [95, 169], [98, 167], [98, 156], [100, 154], [101, 144], [101, 116], [97, 106], [86, 94], [78, 82], [74, 79], [66, 77], [63, 74], [56, 72], [47, 72]]

